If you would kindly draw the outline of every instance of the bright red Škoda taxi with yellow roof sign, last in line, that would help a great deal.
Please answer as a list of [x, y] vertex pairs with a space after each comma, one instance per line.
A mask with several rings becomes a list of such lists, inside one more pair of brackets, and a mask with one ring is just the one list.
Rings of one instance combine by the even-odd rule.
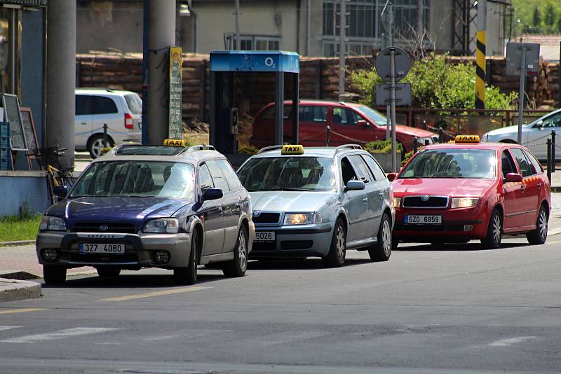
[[394, 246], [400, 240], [479, 239], [484, 247], [498, 248], [503, 235], [520, 233], [530, 244], [546, 242], [551, 195], [538, 160], [518, 144], [478, 141], [459, 136], [455, 144], [426, 146], [399, 174], [388, 174]]

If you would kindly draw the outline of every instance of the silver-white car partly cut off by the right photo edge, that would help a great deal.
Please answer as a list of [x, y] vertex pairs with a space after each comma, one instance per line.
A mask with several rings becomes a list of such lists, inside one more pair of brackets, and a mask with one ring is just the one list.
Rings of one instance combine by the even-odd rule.
[[[522, 125], [522, 146], [527, 147], [540, 160], [546, 160], [548, 157], [546, 141], [551, 130], [561, 135], [561, 109], [548, 113], [532, 123]], [[556, 144], [561, 144], [561, 138], [556, 138]], [[481, 137], [481, 141], [517, 143], [518, 125], [489, 131]], [[561, 152], [557, 151], [556, 158], [561, 158]]]

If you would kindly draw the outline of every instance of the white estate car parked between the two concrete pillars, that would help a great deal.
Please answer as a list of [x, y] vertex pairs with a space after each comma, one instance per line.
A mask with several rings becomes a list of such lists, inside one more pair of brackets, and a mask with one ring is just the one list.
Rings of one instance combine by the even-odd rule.
[[142, 138], [142, 99], [135, 93], [105, 88], [76, 89], [76, 151], [101, 155], [103, 124], [107, 123], [110, 146]]

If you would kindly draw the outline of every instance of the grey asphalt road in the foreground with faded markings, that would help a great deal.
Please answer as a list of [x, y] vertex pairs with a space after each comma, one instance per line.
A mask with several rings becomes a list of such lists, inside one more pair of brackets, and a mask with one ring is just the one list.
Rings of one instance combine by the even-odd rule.
[[561, 370], [561, 236], [400, 247], [387, 263], [250, 263], [71, 277], [0, 304], [0, 373], [474, 373]]

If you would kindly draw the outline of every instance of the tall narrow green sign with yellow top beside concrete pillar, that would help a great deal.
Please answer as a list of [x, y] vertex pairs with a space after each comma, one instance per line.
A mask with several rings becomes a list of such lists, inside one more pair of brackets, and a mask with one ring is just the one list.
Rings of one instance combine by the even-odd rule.
[[183, 69], [181, 60], [182, 50], [180, 47], [170, 47], [170, 98], [169, 98], [169, 120], [168, 139], [182, 139], [182, 90]]

